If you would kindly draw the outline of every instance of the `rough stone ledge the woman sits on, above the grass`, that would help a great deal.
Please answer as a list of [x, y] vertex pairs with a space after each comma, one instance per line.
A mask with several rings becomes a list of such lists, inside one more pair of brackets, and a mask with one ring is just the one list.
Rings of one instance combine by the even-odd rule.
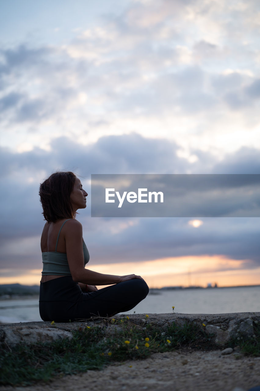
[[[87, 326], [98, 326], [106, 323], [107, 333], [120, 327], [119, 319], [126, 315], [114, 317], [114, 323], [106, 319], [89, 319], [73, 323], [20, 322], [0, 325], [0, 345], [14, 346], [18, 343], [51, 342], [61, 338], [72, 338], [72, 331]], [[128, 320], [129, 319], [129, 320]], [[254, 323], [260, 322], [260, 312], [239, 312], [233, 314], [131, 314], [128, 322], [145, 327], [146, 324], [160, 326], [164, 330], [175, 322], [182, 326], [194, 322], [205, 330], [212, 342], [224, 346], [232, 338], [249, 338], [254, 335]]]

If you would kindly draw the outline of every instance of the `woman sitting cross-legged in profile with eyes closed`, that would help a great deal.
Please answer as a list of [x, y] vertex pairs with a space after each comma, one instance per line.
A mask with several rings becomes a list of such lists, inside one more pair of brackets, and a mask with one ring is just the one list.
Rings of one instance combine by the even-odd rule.
[[[86, 207], [87, 192], [73, 172], [55, 172], [40, 185], [46, 224], [41, 235], [43, 271], [39, 310], [44, 321], [69, 322], [125, 312], [149, 288], [141, 276], [116, 276], [85, 269], [89, 252], [75, 219]], [[114, 284], [114, 285], [110, 285]], [[96, 285], [110, 285], [98, 290]]]

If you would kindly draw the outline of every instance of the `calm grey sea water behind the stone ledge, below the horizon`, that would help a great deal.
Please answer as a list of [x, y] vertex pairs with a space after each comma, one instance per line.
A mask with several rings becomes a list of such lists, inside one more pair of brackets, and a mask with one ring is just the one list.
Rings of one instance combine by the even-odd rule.
[[[174, 307], [174, 309], [173, 309]], [[260, 312], [260, 285], [225, 288], [151, 289], [124, 314], [225, 314]], [[0, 322], [41, 321], [39, 297], [0, 300]]]

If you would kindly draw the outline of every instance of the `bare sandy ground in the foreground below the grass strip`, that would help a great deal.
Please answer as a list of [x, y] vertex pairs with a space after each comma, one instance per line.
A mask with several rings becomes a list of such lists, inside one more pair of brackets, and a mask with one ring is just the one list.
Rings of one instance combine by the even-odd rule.
[[260, 357], [221, 350], [156, 353], [142, 361], [114, 364], [102, 371], [56, 378], [30, 387], [0, 387], [1, 391], [246, 391], [260, 386]]

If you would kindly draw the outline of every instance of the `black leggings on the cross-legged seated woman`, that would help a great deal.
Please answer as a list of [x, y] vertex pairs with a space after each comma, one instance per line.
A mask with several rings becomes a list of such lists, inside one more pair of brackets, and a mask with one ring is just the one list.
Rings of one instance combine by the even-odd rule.
[[59, 277], [40, 285], [40, 316], [43, 321], [55, 322], [110, 317], [131, 310], [148, 292], [148, 285], [139, 278], [95, 292], [82, 292], [71, 276]]

